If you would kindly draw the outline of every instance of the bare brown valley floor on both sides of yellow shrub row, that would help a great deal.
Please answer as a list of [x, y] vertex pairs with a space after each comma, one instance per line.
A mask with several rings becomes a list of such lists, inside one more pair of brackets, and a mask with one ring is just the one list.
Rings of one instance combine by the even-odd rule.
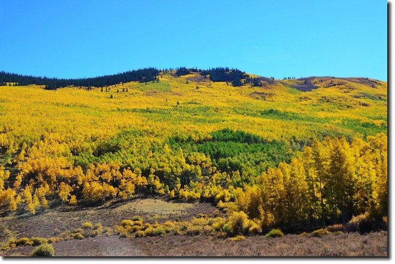
[[[123, 219], [141, 216], [145, 222], [163, 223], [167, 220], [190, 221], [201, 214], [216, 211], [210, 203], [178, 202], [156, 197], [134, 198], [125, 202], [69, 210], [54, 207], [45, 211], [3, 214], [0, 218], [0, 245], [12, 238], [58, 236], [74, 230], [81, 223], [101, 223], [103, 227], [119, 225]], [[62, 240], [52, 244], [54, 256], [388, 256], [387, 231], [331, 233], [322, 237], [288, 234], [278, 238], [263, 235], [246, 236], [242, 241], [229, 238], [166, 234], [165, 237], [119, 238], [118, 235], [88, 237], [82, 240]], [[18, 246], [0, 251], [0, 256], [29, 256], [35, 247]]]

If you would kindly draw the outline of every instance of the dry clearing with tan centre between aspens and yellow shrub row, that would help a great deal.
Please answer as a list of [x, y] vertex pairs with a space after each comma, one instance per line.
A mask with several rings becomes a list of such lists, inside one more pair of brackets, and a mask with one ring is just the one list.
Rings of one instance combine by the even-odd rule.
[[[98, 207], [79, 208], [68, 211], [56, 207], [44, 212], [12, 213], [0, 217], [0, 248], [8, 241], [20, 237], [58, 237], [66, 230], [75, 230], [84, 222], [101, 223], [103, 229], [114, 227], [124, 219], [154, 224], [167, 220], [188, 221], [200, 214], [213, 214], [216, 208], [209, 203], [178, 203], [157, 198], [137, 198], [127, 202], [108, 202]], [[134, 221], [134, 220], [133, 220]], [[139, 224], [139, 223], [134, 223]], [[100, 228], [100, 229], [101, 229]], [[103, 231], [110, 234], [108, 230]]]

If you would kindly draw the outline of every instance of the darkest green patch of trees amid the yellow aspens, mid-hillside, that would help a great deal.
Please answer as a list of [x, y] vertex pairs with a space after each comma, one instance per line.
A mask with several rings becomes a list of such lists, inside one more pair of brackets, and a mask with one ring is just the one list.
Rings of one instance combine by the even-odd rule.
[[213, 166], [222, 172], [239, 171], [241, 178], [235, 179], [235, 187], [251, 183], [254, 176], [281, 161], [289, 161], [292, 156], [284, 143], [267, 142], [257, 135], [240, 130], [223, 129], [211, 132], [210, 137], [202, 142], [170, 138], [169, 145], [174, 151], [181, 148], [185, 153], [204, 153], [211, 158]]

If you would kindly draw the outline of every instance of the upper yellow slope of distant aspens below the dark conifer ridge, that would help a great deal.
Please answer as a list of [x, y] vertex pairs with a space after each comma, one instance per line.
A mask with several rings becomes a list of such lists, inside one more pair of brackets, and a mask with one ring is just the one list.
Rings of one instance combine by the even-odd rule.
[[0, 146], [13, 153], [22, 142], [51, 135], [68, 145], [85, 142], [94, 148], [95, 142], [132, 128], [151, 132], [159, 141], [175, 135], [204, 138], [223, 128], [287, 143], [387, 132], [387, 83], [374, 81], [372, 87], [358, 79], [319, 77], [311, 82], [318, 88], [306, 92], [293, 88], [303, 87], [298, 79], [233, 87], [200, 75], [168, 74], [159, 82], [109, 86], [107, 92], [2, 86]]

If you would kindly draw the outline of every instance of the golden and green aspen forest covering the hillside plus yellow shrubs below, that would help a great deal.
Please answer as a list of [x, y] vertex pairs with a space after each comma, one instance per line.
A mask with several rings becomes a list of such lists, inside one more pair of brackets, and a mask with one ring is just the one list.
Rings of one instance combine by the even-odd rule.
[[[238, 241], [387, 228], [387, 82], [246, 75], [233, 85], [189, 70], [101, 87], [3, 83], [3, 250], [36, 243], [18, 240], [13, 219], [153, 197], [218, 210], [161, 223], [124, 217], [108, 235]], [[86, 223], [58, 240], [106, 232]]]

